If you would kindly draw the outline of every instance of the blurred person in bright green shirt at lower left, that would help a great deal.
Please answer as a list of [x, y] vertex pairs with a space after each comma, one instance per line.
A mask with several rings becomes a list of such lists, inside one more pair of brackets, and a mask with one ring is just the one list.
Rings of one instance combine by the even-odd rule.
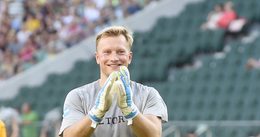
[[35, 121], [38, 121], [38, 114], [31, 110], [29, 103], [22, 104], [22, 136], [23, 137], [38, 137], [38, 127]]

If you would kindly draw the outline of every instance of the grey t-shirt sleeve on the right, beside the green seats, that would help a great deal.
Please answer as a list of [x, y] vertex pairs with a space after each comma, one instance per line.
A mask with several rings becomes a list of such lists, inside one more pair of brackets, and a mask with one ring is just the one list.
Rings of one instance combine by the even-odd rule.
[[152, 114], [158, 117], [161, 117], [162, 123], [168, 121], [167, 107], [160, 96], [159, 92], [152, 88], [149, 92], [147, 101], [143, 110], [143, 115]]

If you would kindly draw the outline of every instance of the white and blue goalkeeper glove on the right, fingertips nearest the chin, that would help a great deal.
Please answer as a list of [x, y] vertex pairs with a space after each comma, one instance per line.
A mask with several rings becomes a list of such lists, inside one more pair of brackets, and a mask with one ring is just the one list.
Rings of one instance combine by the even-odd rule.
[[121, 66], [117, 72], [116, 84], [118, 86], [117, 105], [127, 119], [127, 125], [132, 124], [132, 119], [137, 116], [139, 110], [133, 102], [133, 92], [130, 87], [130, 75], [126, 66]]

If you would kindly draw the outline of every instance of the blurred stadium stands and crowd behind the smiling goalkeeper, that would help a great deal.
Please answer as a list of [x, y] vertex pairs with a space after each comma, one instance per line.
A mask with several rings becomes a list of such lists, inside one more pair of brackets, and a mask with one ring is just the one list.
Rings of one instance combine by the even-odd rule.
[[134, 30], [131, 80], [168, 108], [162, 136], [260, 134], [259, 0], [1, 0], [0, 119], [57, 136], [66, 95], [100, 78], [95, 34]]

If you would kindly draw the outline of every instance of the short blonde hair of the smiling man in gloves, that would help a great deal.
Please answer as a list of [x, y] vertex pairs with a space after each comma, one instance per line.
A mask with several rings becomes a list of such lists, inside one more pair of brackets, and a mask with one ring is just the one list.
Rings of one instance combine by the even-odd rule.
[[95, 38], [95, 43], [96, 43], [96, 51], [98, 50], [98, 43], [100, 39], [104, 36], [119, 36], [119, 35], [124, 35], [126, 39], [126, 43], [129, 46], [129, 51], [131, 50], [131, 46], [133, 44], [133, 32], [132, 30], [122, 27], [122, 26], [112, 26], [112, 27], [107, 27], [100, 31]]

